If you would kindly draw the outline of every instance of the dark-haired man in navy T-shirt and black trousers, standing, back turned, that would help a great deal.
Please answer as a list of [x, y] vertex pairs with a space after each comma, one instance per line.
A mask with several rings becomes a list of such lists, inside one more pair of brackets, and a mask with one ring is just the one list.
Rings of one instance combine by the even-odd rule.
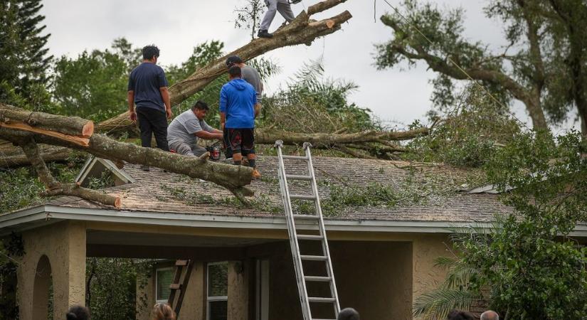
[[[128, 110], [132, 122], [139, 121], [141, 145], [151, 147], [152, 134], [157, 148], [169, 151], [167, 145], [167, 119], [171, 119], [171, 101], [167, 90], [167, 79], [159, 65], [159, 48], [145, 46], [142, 50], [143, 62], [132, 70], [128, 80]], [[135, 112], [134, 105], [137, 105]], [[149, 171], [149, 166], [141, 169]]]

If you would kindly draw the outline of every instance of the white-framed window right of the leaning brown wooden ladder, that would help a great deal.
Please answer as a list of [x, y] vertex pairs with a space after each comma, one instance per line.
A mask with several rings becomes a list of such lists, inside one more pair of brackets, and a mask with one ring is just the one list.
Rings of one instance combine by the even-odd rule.
[[208, 320], [226, 320], [228, 316], [228, 262], [208, 263]]

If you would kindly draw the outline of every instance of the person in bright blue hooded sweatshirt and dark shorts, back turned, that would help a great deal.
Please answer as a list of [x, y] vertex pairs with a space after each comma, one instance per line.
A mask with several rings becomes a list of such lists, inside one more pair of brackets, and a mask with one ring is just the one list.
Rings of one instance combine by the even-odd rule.
[[[240, 166], [243, 156], [253, 168], [253, 178], [260, 178], [255, 165], [255, 104], [257, 92], [252, 85], [241, 79], [238, 65], [228, 69], [228, 83], [220, 90], [220, 125], [224, 141], [229, 142], [233, 150], [233, 162]], [[224, 130], [226, 128], [226, 130]]]

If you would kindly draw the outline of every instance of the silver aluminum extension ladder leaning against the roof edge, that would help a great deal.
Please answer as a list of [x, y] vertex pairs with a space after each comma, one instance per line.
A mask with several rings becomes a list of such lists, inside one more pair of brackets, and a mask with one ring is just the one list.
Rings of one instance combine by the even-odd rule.
[[[304, 144], [305, 156], [284, 156], [282, 154], [283, 142], [277, 140], [275, 147], [277, 148], [277, 159], [279, 161], [279, 181], [281, 187], [281, 194], [283, 199], [283, 206], [285, 208], [285, 220], [287, 220], [287, 230], [290, 234], [290, 245], [292, 247], [292, 257], [295, 267], [295, 277], [297, 280], [297, 289], [300, 293], [300, 302], [302, 304], [302, 313], [304, 320], [323, 320], [312, 318], [312, 304], [332, 304], [334, 309], [334, 317], [329, 319], [337, 319], [340, 312], [339, 297], [337, 293], [337, 285], [334, 282], [334, 272], [332, 272], [332, 260], [330, 260], [330, 251], [328, 249], [328, 241], [326, 238], [326, 230], [324, 229], [324, 219], [322, 218], [322, 208], [320, 207], [320, 199], [318, 195], [318, 187], [316, 184], [316, 176], [314, 175], [314, 166], [312, 165], [312, 155], [310, 154], [310, 147], [312, 144], [306, 142]], [[297, 159], [307, 161], [308, 176], [286, 174], [284, 159]], [[297, 195], [290, 194], [290, 188], [287, 184], [288, 180], [310, 181], [312, 187], [312, 195]], [[302, 201], [314, 201], [314, 215], [302, 215], [293, 213], [292, 199], [299, 199]], [[319, 230], [319, 235], [302, 235], [297, 233], [296, 221], [303, 220], [310, 223], [315, 223]], [[320, 241], [322, 242], [323, 255], [302, 255], [300, 252], [300, 240]], [[302, 261], [323, 261], [326, 264], [326, 277], [307, 276], [304, 272]], [[328, 282], [330, 287], [330, 297], [308, 297], [307, 282]]]

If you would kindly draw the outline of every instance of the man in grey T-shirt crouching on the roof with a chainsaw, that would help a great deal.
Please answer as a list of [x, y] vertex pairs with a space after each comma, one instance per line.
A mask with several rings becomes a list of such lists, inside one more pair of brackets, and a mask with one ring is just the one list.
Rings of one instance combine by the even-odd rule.
[[198, 101], [190, 110], [179, 114], [167, 128], [169, 149], [184, 156], [201, 156], [206, 149], [198, 145], [199, 138], [222, 139], [222, 132], [204, 121], [208, 110], [205, 102]]

